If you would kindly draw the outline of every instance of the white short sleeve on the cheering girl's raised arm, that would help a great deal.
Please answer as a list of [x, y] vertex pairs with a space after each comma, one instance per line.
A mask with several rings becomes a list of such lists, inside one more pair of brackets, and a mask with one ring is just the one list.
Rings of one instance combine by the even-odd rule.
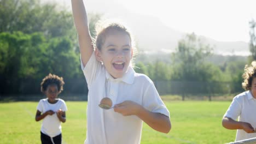
[[101, 67], [101, 63], [97, 61], [95, 52], [92, 52], [92, 55], [89, 61], [86, 63], [85, 67], [83, 66], [82, 59], [80, 57], [81, 68], [83, 70], [88, 88], [91, 86], [91, 83], [96, 78], [96, 72]]

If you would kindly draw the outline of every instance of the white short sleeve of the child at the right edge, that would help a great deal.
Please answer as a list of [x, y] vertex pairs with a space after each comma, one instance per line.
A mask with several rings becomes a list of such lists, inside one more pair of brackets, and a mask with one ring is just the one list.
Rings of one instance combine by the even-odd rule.
[[238, 116], [241, 115], [242, 105], [239, 103], [238, 97], [235, 97], [232, 100], [232, 103], [229, 106], [229, 109], [226, 111], [225, 115], [223, 117], [229, 117], [233, 120], [236, 120]]

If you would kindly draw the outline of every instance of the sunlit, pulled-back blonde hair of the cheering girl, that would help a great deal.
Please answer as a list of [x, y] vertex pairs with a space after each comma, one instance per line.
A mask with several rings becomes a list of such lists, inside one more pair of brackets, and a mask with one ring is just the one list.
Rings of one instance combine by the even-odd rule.
[[131, 64], [133, 65], [133, 61], [135, 59], [135, 56], [137, 55], [137, 49], [134, 43], [135, 40], [133, 39], [130, 30], [123, 23], [99, 20], [95, 26], [96, 37], [93, 40], [94, 47], [101, 51], [102, 45], [104, 44], [106, 37], [113, 31], [118, 31], [129, 36], [131, 41], [131, 48], [133, 50], [133, 56], [131, 59]]

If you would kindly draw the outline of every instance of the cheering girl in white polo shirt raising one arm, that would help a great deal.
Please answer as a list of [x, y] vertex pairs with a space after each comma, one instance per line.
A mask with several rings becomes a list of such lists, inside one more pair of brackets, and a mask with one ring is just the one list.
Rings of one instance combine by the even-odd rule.
[[[83, 0], [72, 0], [72, 10], [89, 89], [85, 143], [140, 143], [143, 121], [168, 133], [169, 112], [153, 82], [131, 66], [135, 47], [130, 32], [111, 23], [97, 32], [93, 45]], [[112, 100], [112, 109], [98, 106], [106, 97]]]

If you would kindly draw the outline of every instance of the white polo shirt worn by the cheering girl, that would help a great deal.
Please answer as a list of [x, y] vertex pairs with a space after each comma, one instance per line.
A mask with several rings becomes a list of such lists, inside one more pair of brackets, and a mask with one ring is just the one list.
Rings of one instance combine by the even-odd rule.
[[86, 144], [135, 144], [141, 141], [143, 121], [137, 116], [123, 116], [113, 109], [103, 110], [98, 104], [109, 97], [113, 105], [132, 100], [152, 112], [169, 117], [166, 106], [159, 97], [153, 82], [144, 74], [137, 74], [129, 67], [127, 73], [113, 79], [92, 53], [82, 69], [88, 83]]

